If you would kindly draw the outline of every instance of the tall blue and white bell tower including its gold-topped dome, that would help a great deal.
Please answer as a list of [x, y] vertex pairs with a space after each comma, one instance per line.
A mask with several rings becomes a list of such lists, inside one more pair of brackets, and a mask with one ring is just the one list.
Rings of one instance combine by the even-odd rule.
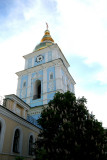
[[32, 53], [24, 56], [25, 69], [17, 72], [17, 96], [26, 102], [29, 114], [37, 118], [56, 92], [74, 93], [75, 81], [68, 71], [69, 63], [54, 43], [48, 27]]

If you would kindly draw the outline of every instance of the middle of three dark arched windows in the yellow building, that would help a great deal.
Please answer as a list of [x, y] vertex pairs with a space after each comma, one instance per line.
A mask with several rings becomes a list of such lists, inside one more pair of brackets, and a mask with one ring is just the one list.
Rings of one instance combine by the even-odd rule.
[[19, 153], [20, 131], [16, 129], [13, 141], [13, 152]]

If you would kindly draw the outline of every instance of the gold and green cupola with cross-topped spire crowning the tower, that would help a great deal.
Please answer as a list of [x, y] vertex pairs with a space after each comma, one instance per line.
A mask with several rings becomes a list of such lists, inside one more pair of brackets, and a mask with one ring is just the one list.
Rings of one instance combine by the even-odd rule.
[[52, 39], [52, 37], [50, 35], [50, 31], [48, 30], [47, 23], [46, 23], [46, 26], [47, 26], [47, 28], [45, 30], [44, 36], [42, 37], [41, 42], [38, 45], [36, 45], [36, 47], [34, 48], [34, 51], [41, 50], [43, 48], [46, 48], [46, 47], [54, 44], [54, 40]]

